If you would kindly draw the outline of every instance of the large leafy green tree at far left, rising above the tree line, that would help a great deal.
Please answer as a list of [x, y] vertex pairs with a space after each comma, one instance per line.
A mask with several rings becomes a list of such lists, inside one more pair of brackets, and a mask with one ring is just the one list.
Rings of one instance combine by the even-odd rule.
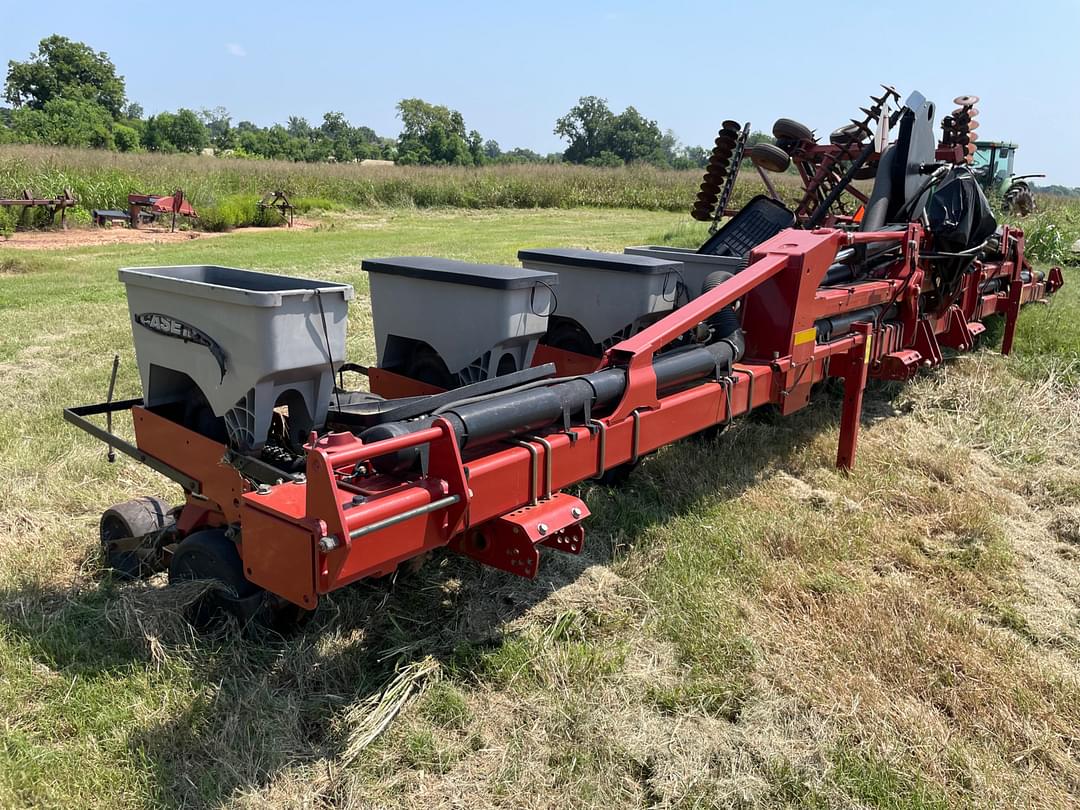
[[53, 35], [26, 62], [8, 63], [4, 97], [16, 107], [43, 110], [56, 98], [95, 104], [112, 118], [124, 106], [124, 80], [104, 51]]

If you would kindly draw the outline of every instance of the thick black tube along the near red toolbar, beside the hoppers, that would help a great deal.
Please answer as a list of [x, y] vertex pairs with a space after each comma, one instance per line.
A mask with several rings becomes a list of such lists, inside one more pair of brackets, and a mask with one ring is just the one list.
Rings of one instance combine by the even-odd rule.
[[[721, 310], [717, 314], [724, 313], [725, 310]], [[735, 328], [715, 342], [674, 349], [653, 357], [658, 393], [726, 374], [732, 363], [742, 359], [743, 335], [734, 313], [729, 313], [721, 322]], [[458, 447], [476, 447], [562, 422], [564, 415], [569, 417], [571, 423], [581, 424], [586, 408], [592, 413], [613, 406], [625, 387], [624, 368], [603, 368], [562, 381], [544, 380], [516, 390], [464, 400], [413, 421], [377, 424], [364, 431], [361, 438], [372, 443], [403, 436], [429, 428], [436, 417], [442, 417], [453, 426]], [[374, 459], [373, 465], [380, 473], [395, 473], [409, 469], [418, 459], [419, 450], [410, 448]]]

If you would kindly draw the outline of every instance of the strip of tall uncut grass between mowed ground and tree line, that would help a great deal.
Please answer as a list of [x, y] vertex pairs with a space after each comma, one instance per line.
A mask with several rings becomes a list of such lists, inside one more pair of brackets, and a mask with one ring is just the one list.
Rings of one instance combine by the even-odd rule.
[[[746, 179], [742, 204], [764, 190]], [[92, 149], [0, 147], [0, 193], [59, 194], [71, 189], [81, 205], [126, 208], [127, 194], [172, 193], [183, 188], [199, 206], [230, 195], [261, 197], [285, 189], [306, 204], [351, 207], [455, 206], [462, 208], [643, 208], [688, 211], [700, 171], [650, 166], [591, 168], [575, 165], [502, 165], [483, 168], [307, 164], [181, 154], [121, 154]], [[791, 184], [781, 183], [782, 188]], [[89, 217], [87, 217], [89, 221]]]

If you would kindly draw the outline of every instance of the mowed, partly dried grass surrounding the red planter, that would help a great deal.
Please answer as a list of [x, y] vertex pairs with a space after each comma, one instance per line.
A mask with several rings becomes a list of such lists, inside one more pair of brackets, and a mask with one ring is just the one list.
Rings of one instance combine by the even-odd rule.
[[[299, 635], [193, 637], [103, 577], [102, 509], [176, 499], [65, 405], [137, 394], [120, 266], [348, 280], [362, 257], [691, 239], [642, 211], [377, 211], [308, 231], [0, 247], [0, 807], [1066, 807], [1080, 793], [1080, 279], [1013, 357], [748, 418], [583, 485], [531, 582], [440, 556]], [[697, 232], [693, 232], [697, 233]], [[401, 707], [383, 727], [393, 710]], [[375, 732], [381, 731], [376, 734]], [[373, 740], [374, 738], [374, 740]]]

